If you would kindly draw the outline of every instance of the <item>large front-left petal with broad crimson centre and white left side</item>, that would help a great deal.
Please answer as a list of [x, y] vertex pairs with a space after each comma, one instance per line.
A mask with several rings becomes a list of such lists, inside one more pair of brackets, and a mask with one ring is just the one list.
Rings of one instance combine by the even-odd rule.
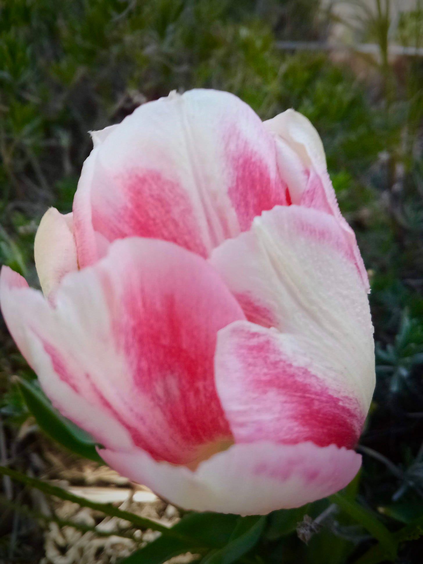
[[[2, 292], [1, 300], [47, 395], [106, 446], [95, 422], [88, 426], [95, 416], [87, 406], [122, 426], [136, 446], [176, 464], [232, 440], [213, 356], [217, 331], [244, 315], [197, 255], [165, 241], [117, 241], [94, 267], [62, 280], [55, 307], [29, 289]], [[56, 393], [64, 384], [81, 396], [85, 414], [81, 402]]]

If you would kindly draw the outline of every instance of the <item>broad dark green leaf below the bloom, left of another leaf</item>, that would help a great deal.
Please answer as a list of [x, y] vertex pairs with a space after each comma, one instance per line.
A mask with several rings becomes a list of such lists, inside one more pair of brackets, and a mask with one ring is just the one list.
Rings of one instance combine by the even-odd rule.
[[146, 547], [136, 550], [120, 564], [162, 564], [178, 554], [204, 553], [210, 548], [221, 548], [235, 529], [239, 515], [223, 513], [190, 513], [183, 517], [171, 531], [183, 537], [162, 535]]

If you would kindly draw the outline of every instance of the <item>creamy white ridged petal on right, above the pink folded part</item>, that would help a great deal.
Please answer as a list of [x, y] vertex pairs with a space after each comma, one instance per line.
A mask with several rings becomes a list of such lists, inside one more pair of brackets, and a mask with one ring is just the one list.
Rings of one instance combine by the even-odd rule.
[[367, 413], [373, 326], [354, 255], [333, 216], [277, 206], [215, 249], [210, 262], [247, 304], [249, 321], [306, 339], [311, 358], [328, 367], [326, 379]]

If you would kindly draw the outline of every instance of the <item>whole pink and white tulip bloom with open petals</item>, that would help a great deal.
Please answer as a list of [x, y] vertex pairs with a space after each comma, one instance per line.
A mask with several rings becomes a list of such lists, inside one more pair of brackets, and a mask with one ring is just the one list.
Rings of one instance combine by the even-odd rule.
[[184, 508], [268, 513], [346, 486], [373, 327], [309, 120], [192, 90], [92, 139], [73, 213], [48, 210], [37, 232], [43, 294], [1, 275], [54, 406]]

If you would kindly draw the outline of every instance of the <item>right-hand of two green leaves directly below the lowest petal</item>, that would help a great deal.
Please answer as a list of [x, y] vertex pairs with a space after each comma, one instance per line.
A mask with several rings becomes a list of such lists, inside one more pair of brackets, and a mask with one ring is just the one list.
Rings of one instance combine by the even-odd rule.
[[250, 515], [241, 517], [228, 544], [202, 559], [202, 564], [232, 564], [258, 543], [266, 525], [266, 517]]

